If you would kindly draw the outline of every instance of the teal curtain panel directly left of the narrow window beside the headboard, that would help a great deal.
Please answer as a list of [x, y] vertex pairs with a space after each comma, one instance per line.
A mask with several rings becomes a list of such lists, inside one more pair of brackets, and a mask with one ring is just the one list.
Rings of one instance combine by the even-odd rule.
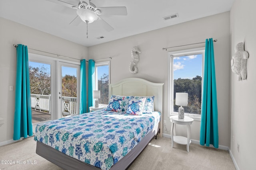
[[89, 60], [88, 66], [88, 107], [93, 106], [92, 91], [95, 90], [95, 61]]

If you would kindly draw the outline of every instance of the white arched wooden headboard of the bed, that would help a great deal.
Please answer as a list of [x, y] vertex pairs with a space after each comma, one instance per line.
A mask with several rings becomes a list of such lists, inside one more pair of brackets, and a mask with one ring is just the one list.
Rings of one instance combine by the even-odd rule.
[[155, 96], [154, 110], [161, 113], [160, 134], [162, 137], [163, 120], [163, 85], [164, 83], [153, 83], [142, 78], [125, 78], [119, 82], [109, 84], [109, 99], [112, 95], [122, 96]]

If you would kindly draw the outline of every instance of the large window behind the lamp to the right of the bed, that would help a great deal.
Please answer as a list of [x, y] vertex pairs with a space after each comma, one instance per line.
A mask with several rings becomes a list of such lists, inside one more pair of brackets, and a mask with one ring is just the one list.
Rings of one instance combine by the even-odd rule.
[[178, 114], [176, 92], [188, 93], [185, 115], [200, 117], [204, 48], [168, 53], [168, 113]]

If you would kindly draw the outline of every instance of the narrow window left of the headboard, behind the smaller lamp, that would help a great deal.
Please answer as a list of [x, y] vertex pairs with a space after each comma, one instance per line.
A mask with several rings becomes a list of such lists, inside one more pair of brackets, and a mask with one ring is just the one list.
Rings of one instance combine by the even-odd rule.
[[110, 61], [95, 63], [95, 90], [100, 90], [99, 104], [108, 105]]

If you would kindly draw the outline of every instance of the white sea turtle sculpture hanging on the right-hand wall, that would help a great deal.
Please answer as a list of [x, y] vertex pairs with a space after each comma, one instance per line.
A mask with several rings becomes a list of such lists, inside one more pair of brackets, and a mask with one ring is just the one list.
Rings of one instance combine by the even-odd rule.
[[249, 54], [244, 51], [244, 43], [238, 43], [235, 47], [235, 53], [231, 59], [231, 70], [238, 75], [237, 79], [246, 80], [246, 66]]

